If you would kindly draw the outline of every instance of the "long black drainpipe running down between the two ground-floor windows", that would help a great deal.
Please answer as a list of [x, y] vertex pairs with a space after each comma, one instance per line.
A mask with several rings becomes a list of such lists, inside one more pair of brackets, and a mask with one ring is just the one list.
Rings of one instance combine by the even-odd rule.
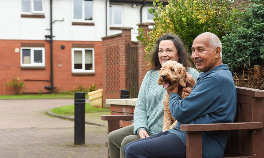
[[50, 93], [53, 93], [53, 34], [52, 34], [52, 0], [50, 0]]

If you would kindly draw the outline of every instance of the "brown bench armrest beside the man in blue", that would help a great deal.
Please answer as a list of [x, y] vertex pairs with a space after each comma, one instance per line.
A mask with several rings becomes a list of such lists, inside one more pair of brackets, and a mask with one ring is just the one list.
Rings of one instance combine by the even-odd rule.
[[245, 130], [261, 129], [263, 122], [238, 122], [238, 123], [210, 123], [210, 124], [188, 124], [180, 125], [181, 131], [214, 131], [214, 130]]

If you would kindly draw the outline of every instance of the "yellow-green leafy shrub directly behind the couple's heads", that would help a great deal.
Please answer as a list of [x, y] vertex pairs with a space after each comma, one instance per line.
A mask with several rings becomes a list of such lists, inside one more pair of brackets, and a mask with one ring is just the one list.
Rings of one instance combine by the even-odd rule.
[[153, 1], [154, 9], [149, 12], [154, 15], [155, 25], [147, 36], [139, 28], [137, 37], [144, 45], [145, 59], [149, 62], [151, 50], [155, 41], [166, 33], [179, 36], [190, 50], [193, 40], [203, 32], [212, 32], [220, 40], [231, 31], [232, 24], [240, 16], [240, 8], [232, 8], [230, 0], [168, 0], [169, 4], [163, 8], [162, 2]]

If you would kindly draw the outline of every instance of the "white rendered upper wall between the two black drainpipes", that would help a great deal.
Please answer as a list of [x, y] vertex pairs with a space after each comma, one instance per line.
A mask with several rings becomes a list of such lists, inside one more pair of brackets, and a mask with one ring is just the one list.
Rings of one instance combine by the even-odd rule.
[[53, 20], [64, 18], [63, 22], [53, 24], [54, 40], [101, 41], [105, 36], [105, 0], [93, 1], [94, 26], [72, 25], [77, 22], [73, 20], [72, 0], [55, 0], [53, 8]]

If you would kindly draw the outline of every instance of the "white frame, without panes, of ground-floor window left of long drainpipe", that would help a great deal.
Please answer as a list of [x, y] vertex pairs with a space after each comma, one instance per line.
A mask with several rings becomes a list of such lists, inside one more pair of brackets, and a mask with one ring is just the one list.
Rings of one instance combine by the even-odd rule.
[[[23, 49], [30, 49], [30, 64], [23, 64]], [[42, 51], [42, 63], [34, 63], [34, 50]], [[21, 67], [45, 67], [45, 48], [44, 47], [21, 47], [20, 48]]]

